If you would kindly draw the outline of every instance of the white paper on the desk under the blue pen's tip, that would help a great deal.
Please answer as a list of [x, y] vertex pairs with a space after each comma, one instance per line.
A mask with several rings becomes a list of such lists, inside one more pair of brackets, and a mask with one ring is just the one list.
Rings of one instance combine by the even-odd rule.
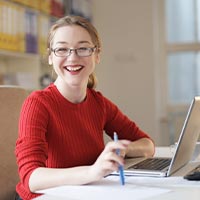
[[40, 190], [38, 193], [53, 195], [56, 197], [67, 197], [74, 200], [122, 200], [134, 197], [134, 200], [150, 198], [156, 195], [169, 192], [169, 189], [157, 187], [146, 187], [133, 184], [127, 179], [124, 186], [120, 185], [118, 176], [110, 176], [102, 181], [82, 186], [61, 186], [47, 190]]

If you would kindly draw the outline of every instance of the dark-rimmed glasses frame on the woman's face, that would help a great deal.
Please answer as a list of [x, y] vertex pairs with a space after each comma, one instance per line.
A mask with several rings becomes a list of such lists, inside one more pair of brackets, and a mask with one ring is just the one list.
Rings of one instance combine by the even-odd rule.
[[[90, 51], [90, 54], [88, 54], [88, 55], [86, 55], [86, 56], [80, 56], [79, 53], [78, 53], [78, 50], [83, 49], [83, 47], [82, 47], [82, 48], [74, 48], [74, 49], [72, 49], [72, 48], [66, 48], [66, 50], [68, 50], [68, 51], [66, 52], [67, 55], [63, 55], [63, 56], [57, 55], [57, 54], [56, 54], [56, 50], [57, 50], [57, 49], [62, 49], [62, 48], [59, 48], [59, 47], [58, 47], [58, 48], [55, 48], [55, 49], [51, 48], [51, 51], [52, 51], [52, 52], [54, 53], [54, 55], [57, 56], [57, 57], [68, 57], [68, 56], [70, 56], [70, 55], [72, 54], [73, 51], [74, 51], [75, 54], [76, 54], [77, 56], [79, 56], [79, 57], [88, 57], [88, 56], [91, 56], [91, 55], [94, 53], [94, 51], [97, 49], [97, 47], [96, 47], [96, 46], [94, 46], [94, 47], [84, 47], [84, 49], [87, 49], [87, 50]], [[65, 49], [65, 48], [63, 48], [63, 49]]]

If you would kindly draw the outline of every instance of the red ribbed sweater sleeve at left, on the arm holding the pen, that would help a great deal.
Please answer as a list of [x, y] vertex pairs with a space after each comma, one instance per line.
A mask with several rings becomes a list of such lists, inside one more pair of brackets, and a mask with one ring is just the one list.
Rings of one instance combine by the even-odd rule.
[[47, 123], [48, 112], [43, 103], [39, 98], [29, 97], [22, 106], [15, 149], [21, 183], [27, 190], [33, 170], [45, 166]]

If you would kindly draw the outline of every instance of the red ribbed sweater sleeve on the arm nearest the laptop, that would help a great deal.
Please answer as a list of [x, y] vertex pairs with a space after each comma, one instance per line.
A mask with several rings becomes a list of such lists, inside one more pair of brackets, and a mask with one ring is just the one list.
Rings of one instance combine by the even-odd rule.
[[150, 138], [134, 121], [130, 120], [115, 104], [105, 97], [104, 106], [106, 116], [105, 131], [111, 138], [113, 138], [113, 132], [117, 132], [119, 139], [128, 139], [131, 141], [140, 138]]

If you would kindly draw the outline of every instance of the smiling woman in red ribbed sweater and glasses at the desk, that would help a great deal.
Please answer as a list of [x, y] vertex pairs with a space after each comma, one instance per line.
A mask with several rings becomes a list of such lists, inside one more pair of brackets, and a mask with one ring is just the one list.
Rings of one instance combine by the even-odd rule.
[[[100, 180], [124, 164], [123, 155], [152, 156], [154, 144], [116, 105], [94, 90], [101, 43], [91, 23], [66, 16], [51, 28], [48, 61], [57, 78], [24, 102], [16, 143], [21, 199], [37, 190]], [[104, 146], [103, 131], [119, 141]]]

